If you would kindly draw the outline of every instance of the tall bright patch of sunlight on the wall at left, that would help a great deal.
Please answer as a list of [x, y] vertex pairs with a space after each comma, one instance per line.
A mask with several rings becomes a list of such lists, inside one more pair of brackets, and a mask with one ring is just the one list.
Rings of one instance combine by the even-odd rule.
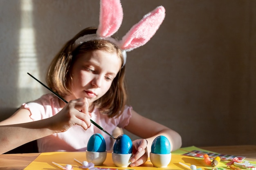
[[19, 75], [18, 75], [18, 102], [34, 99], [35, 96], [42, 94], [41, 85], [32, 79], [27, 73], [34, 77], [39, 77], [38, 60], [35, 49], [35, 36], [33, 27], [33, 3], [32, 0], [21, 0], [21, 26], [19, 42]]

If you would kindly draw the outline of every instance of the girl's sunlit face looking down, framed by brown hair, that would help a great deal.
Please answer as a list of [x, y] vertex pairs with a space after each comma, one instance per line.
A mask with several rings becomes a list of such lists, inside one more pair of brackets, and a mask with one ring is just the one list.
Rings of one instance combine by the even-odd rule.
[[89, 105], [102, 97], [110, 88], [121, 68], [117, 53], [94, 50], [76, 56], [72, 67], [72, 94], [68, 100], [87, 97]]

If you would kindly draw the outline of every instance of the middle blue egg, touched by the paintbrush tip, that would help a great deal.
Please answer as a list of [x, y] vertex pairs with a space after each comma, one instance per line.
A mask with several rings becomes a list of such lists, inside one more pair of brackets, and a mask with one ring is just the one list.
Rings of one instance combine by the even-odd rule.
[[115, 141], [113, 152], [118, 154], [132, 153], [132, 140], [130, 137], [125, 134], [120, 135]]

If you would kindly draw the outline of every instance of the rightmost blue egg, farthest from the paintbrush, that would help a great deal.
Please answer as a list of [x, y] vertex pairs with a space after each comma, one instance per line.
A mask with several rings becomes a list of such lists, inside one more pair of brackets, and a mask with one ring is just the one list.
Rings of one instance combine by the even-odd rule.
[[151, 145], [151, 152], [155, 154], [171, 153], [171, 145], [167, 137], [165, 136], [156, 137]]

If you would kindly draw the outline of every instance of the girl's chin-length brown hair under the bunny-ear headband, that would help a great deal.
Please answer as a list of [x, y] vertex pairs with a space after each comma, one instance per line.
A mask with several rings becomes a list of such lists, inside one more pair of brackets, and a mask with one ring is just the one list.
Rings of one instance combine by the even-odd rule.
[[[72, 47], [76, 39], [83, 35], [95, 34], [96, 31], [97, 29], [94, 27], [88, 27], [80, 31], [74, 36], [74, 38], [69, 40], [63, 46], [61, 51], [57, 53], [52, 60], [52, 63], [49, 65], [46, 76], [47, 84], [49, 88], [62, 97], [71, 93], [72, 75], [70, 72], [77, 55], [96, 49], [107, 52], [117, 52], [117, 55], [121, 59], [121, 65], [123, 65], [124, 58], [121, 50], [115, 44], [107, 40], [92, 40], [84, 42], [72, 51]], [[118, 116], [124, 111], [127, 99], [124, 75], [125, 66], [122, 66], [107, 93], [94, 101], [95, 106], [97, 106], [102, 113], [107, 114], [108, 117]]]

